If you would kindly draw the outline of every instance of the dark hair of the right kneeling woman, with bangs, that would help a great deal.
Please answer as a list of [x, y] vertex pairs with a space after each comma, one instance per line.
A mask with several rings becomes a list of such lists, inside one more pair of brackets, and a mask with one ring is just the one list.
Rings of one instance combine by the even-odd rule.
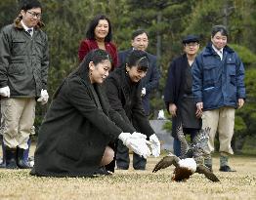
[[149, 68], [149, 58], [146, 52], [133, 50], [127, 57], [126, 64], [128, 67], [137, 66], [138, 69], [147, 71]]

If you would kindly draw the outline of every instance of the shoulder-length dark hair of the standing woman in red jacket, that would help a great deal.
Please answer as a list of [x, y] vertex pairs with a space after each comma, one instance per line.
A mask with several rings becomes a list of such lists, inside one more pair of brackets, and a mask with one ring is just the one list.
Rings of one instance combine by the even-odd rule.
[[87, 31], [86, 31], [86, 38], [90, 39], [90, 40], [95, 40], [94, 30], [100, 20], [107, 20], [107, 22], [108, 22], [108, 33], [105, 38], [105, 41], [110, 42], [112, 40], [112, 28], [111, 28], [110, 20], [108, 20], [105, 15], [98, 15], [93, 20], [91, 20], [91, 22], [89, 23], [89, 26], [87, 28]]

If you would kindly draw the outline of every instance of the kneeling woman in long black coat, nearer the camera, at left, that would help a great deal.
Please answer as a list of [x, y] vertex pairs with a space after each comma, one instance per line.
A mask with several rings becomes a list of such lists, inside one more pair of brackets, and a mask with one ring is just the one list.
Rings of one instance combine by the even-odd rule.
[[90, 52], [56, 91], [38, 134], [31, 175], [90, 177], [114, 156], [109, 141], [122, 140], [141, 156], [150, 154], [144, 136], [113, 111], [102, 91], [111, 68], [104, 50]]

